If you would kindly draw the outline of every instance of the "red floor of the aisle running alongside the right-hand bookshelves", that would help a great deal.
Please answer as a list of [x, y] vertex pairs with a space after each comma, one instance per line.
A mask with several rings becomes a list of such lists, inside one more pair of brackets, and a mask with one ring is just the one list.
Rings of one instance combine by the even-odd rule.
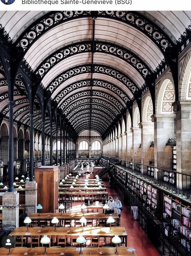
[[[114, 189], [109, 187], [108, 182], [104, 182], [104, 186], [107, 188], [109, 196], [118, 196]], [[119, 197], [119, 196], [118, 196]], [[120, 197], [119, 197], [120, 199]], [[131, 220], [131, 212], [129, 208], [125, 206], [125, 203], [121, 200], [123, 210], [121, 213], [121, 227], [125, 227], [128, 234], [128, 246], [136, 249], [137, 256], [160, 256], [160, 253], [152, 244], [147, 234], [143, 231], [137, 221]]]

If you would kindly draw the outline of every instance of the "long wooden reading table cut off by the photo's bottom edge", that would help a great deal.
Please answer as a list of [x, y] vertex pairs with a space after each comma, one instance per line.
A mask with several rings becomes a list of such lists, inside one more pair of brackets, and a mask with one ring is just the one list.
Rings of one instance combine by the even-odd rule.
[[[118, 256], [125, 256], [125, 255], [133, 255], [137, 256], [136, 252], [129, 252], [127, 251], [129, 247], [118, 247]], [[79, 250], [80, 248], [75, 247], [64, 247], [64, 248], [46, 248], [47, 255], [65, 255], [65, 256], [79, 256]], [[101, 248], [82, 248], [83, 256], [114, 256], [115, 254], [115, 248], [113, 247], [101, 247]], [[41, 255], [44, 254], [44, 247], [38, 247], [38, 248], [11, 248], [10, 249], [11, 255]], [[101, 253], [100, 253], [101, 252]], [[0, 255], [6, 256], [8, 253], [8, 249], [0, 248]]]

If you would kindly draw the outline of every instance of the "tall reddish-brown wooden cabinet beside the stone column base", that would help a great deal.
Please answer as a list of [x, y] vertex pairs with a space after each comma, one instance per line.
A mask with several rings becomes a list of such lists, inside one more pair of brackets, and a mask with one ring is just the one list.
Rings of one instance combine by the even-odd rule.
[[41, 204], [41, 212], [55, 212], [58, 209], [59, 169], [57, 166], [41, 166], [35, 168], [35, 181], [38, 183], [37, 204]]

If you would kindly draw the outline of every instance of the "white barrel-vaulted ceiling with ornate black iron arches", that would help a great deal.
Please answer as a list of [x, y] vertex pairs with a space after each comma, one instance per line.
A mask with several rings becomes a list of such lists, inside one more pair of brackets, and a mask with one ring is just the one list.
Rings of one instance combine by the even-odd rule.
[[[169, 49], [191, 30], [191, 11], [0, 11], [0, 28], [77, 133], [91, 127], [103, 135], [139, 98], [160, 64], [168, 63]], [[15, 85], [14, 117], [28, 123], [21, 80]], [[6, 117], [7, 92], [0, 63]], [[37, 109], [35, 115], [41, 120]]]

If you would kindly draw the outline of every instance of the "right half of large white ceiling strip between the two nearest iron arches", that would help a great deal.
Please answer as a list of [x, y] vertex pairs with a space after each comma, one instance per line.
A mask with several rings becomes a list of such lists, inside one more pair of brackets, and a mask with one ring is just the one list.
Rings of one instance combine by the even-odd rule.
[[164, 58], [158, 46], [149, 37], [120, 21], [98, 18], [96, 20], [95, 39], [114, 42], [125, 48], [132, 49], [153, 69]]

